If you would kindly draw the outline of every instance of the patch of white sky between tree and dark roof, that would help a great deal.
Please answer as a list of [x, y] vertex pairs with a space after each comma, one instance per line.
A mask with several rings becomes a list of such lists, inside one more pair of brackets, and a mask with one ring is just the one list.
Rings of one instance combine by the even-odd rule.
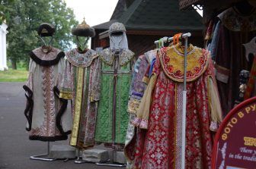
[[72, 8], [76, 20], [95, 26], [110, 20], [118, 0], [65, 0], [67, 6]]

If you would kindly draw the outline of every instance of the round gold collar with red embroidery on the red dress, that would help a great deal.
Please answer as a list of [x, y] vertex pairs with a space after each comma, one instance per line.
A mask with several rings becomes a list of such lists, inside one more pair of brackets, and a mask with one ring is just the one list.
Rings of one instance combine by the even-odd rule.
[[[209, 52], [190, 45], [187, 49], [187, 82], [196, 80], [206, 70]], [[162, 69], [171, 80], [184, 81], [184, 50], [180, 45], [162, 48], [160, 51]]]

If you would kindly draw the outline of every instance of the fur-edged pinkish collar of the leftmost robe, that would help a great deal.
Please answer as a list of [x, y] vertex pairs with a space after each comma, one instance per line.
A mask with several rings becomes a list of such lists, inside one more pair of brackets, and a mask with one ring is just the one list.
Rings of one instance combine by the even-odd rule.
[[58, 64], [60, 58], [64, 58], [64, 56], [64, 52], [53, 47], [51, 47], [50, 52], [47, 53], [43, 52], [42, 47], [34, 49], [32, 52], [30, 52], [30, 58], [41, 66]]

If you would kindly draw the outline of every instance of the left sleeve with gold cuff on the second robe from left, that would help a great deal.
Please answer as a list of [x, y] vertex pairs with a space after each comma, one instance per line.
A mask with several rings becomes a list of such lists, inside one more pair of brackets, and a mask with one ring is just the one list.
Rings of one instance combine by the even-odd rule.
[[72, 99], [72, 65], [69, 61], [64, 62], [64, 71], [62, 74], [62, 80], [59, 87], [59, 98], [62, 99]]

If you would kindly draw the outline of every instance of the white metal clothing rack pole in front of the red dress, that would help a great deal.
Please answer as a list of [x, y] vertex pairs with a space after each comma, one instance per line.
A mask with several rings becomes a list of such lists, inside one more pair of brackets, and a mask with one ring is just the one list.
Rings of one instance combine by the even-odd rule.
[[[190, 37], [191, 33], [184, 33], [181, 35], [181, 38], [185, 40], [185, 49], [184, 49], [184, 90], [182, 92], [182, 143], [181, 143], [181, 169], [185, 169], [185, 152], [186, 152], [186, 105], [187, 105], [187, 37]], [[155, 45], [158, 45], [159, 42], [171, 42], [174, 37], [164, 37], [161, 40], [155, 41]]]

